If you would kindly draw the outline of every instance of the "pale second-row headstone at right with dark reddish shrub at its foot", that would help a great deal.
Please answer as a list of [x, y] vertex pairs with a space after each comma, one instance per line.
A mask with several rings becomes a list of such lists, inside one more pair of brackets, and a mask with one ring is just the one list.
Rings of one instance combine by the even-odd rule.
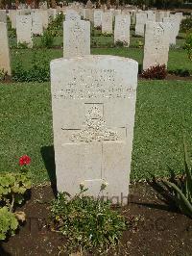
[[169, 52], [169, 28], [167, 23], [147, 22], [143, 69], [156, 64], [166, 64]]

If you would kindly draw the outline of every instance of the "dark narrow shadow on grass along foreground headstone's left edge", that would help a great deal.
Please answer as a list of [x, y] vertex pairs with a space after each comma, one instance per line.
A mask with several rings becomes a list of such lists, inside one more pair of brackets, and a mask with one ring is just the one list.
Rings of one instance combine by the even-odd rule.
[[51, 188], [56, 196], [57, 195], [57, 179], [56, 179], [54, 146], [53, 145], [42, 146], [40, 149], [40, 153], [41, 153], [44, 165], [47, 169], [47, 173], [49, 175], [49, 179], [51, 182]]

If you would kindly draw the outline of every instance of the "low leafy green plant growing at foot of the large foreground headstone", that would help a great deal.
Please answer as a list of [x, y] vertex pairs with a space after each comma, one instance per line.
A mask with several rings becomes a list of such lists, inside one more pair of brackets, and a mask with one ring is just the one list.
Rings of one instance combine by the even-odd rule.
[[[126, 229], [125, 218], [111, 209], [110, 201], [84, 195], [87, 189], [83, 185], [80, 188], [81, 192], [72, 198], [59, 193], [52, 203], [52, 218], [57, 230], [67, 238], [67, 252], [115, 247]], [[101, 192], [104, 189], [105, 185]]]

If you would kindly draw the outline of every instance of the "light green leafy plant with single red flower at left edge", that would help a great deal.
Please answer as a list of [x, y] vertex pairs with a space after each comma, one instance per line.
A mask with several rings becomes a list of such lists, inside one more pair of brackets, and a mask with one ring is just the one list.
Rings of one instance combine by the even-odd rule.
[[30, 162], [28, 156], [22, 156], [19, 159], [19, 172], [0, 175], [0, 241], [14, 235], [19, 221], [25, 221], [25, 213], [15, 211], [15, 208], [24, 201], [26, 192], [32, 187], [31, 176], [26, 167]]

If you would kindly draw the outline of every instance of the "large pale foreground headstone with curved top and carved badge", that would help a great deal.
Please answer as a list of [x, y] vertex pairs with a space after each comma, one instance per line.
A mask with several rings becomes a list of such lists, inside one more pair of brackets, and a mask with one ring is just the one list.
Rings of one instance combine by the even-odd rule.
[[125, 204], [129, 193], [138, 64], [86, 56], [51, 62], [54, 146], [59, 192], [81, 183]]

